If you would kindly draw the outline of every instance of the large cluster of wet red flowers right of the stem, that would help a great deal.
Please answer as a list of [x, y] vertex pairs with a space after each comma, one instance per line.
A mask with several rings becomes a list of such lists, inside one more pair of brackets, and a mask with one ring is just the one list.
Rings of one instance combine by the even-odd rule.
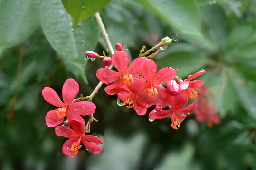
[[[196, 98], [197, 92], [194, 90], [201, 87], [204, 82], [192, 79], [205, 73], [201, 70], [190, 75], [185, 81], [178, 79], [178, 83], [173, 79], [176, 71], [172, 68], [163, 68], [157, 72], [156, 63], [146, 57], [139, 57], [129, 65], [129, 56], [122, 48], [116, 49], [112, 56], [112, 63], [118, 72], [100, 68], [97, 70], [97, 78], [110, 84], [105, 88], [109, 95], [117, 94], [119, 100], [127, 108], [133, 108], [138, 115], [145, 115], [147, 108], [155, 105], [155, 109], [150, 113], [149, 119], [162, 119], [171, 116], [171, 126], [175, 129], [180, 127], [180, 122], [186, 118], [187, 113], [197, 107], [194, 102], [184, 109], [189, 97]], [[177, 78], [177, 76], [176, 76]], [[162, 84], [167, 83], [167, 88]], [[162, 110], [171, 105], [171, 110]]]

